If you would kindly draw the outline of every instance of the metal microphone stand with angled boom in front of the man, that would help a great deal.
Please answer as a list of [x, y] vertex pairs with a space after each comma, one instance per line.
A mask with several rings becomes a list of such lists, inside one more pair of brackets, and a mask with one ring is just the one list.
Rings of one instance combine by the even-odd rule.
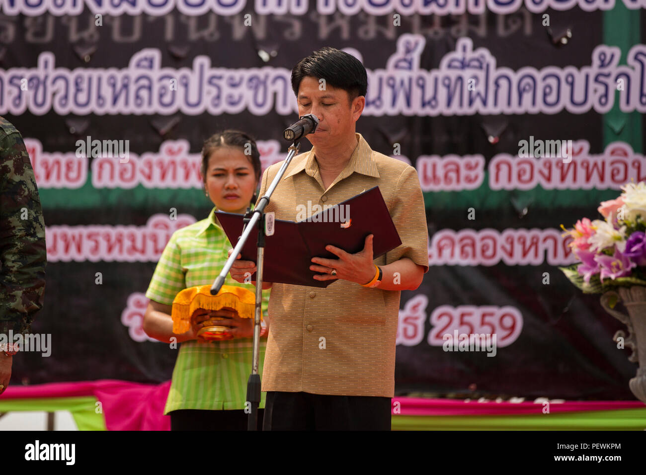
[[[317, 124], [318, 125], [318, 124]], [[227, 259], [227, 262], [224, 264], [224, 268], [220, 272], [220, 275], [216, 277], [211, 286], [211, 295], [217, 295], [224, 284], [224, 280], [229, 273], [229, 269], [233, 266], [233, 262], [238, 257], [238, 254], [242, 252], [242, 248], [249, 238], [251, 229], [257, 224], [258, 225], [258, 256], [256, 262], [258, 263], [256, 269], [256, 307], [255, 307], [255, 318], [254, 318], [254, 327], [253, 327], [253, 364], [251, 366], [251, 374], [249, 375], [249, 380], [247, 381], [247, 404], [245, 405], [245, 412], [247, 412], [247, 407], [251, 410], [249, 412], [249, 419], [247, 422], [247, 430], [256, 430], [258, 423], [258, 405], [260, 405], [260, 375], [258, 374], [258, 360], [260, 359], [259, 350], [260, 350], [260, 312], [262, 308], [262, 269], [263, 261], [265, 255], [265, 207], [269, 203], [269, 198], [273, 194], [278, 182], [282, 179], [282, 176], [285, 174], [287, 167], [291, 163], [291, 159], [298, 153], [300, 150], [300, 143], [298, 142], [300, 138], [297, 138], [290, 145], [283, 164], [281, 165], [276, 177], [274, 178], [267, 193], [260, 198], [258, 201], [258, 206], [255, 207], [253, 211], [247, 208], [247, 213], [245, 213], [244, 222], [245, 226], [242, 229], [242, 236], [238, 238], [236, 246], [233, 248], [233, 252]], [[249, 226], [247, 226], [249, 225]]]

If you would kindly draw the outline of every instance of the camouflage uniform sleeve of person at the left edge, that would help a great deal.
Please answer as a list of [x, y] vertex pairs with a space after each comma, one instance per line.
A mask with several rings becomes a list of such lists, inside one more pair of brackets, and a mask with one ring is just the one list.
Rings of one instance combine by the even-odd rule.
[[20, 132], [0, 117], [0, 333], [31, 332], [45, 293], [45, 221]]

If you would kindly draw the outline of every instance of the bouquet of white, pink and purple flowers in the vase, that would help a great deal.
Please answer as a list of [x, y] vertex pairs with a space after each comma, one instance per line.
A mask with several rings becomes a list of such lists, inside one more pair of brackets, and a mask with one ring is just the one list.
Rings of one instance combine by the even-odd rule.
[[583, 218], [570, 230], [561, 224], [581, 262], [559, 269], [584, 293], [646, 286], [646, 183], [621, 189], [619, 198], [599, 206], [605, 220]]

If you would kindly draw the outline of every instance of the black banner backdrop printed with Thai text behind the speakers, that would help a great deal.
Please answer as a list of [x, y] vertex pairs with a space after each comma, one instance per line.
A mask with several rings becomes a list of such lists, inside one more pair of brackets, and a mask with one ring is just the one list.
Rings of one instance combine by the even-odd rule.
[[[545, 94], [545, 89], [537, 94], [534, 105], [526, 99], [532, 90], [526, 90], [519, 77], [523, 68], [540, 71], [554, 67], [560, 71], [564, 97], [568, 68], [583, 70], [596, 65], [603, 69], [596, 59], [599, 52], [595, 54], [595, 48], [603, 45], [602, 12], [583, 12], [576, 7], [561, 12], [548, 9], [546, 13], [552, 25], [549, 30], [543, 26], [542, 14], [532, 14], [524, 7], [508, 15], [490, 11], [459, 16], [402, 15], [397, 26], [393, 14], [372, 16], [362, 11], [351, 16], [340, 12], [325, 15], [313, 4], [302, 15], [261, 16], [251, 5], [231, 16], [214, 12], [191, 16], [176, 9], [164, 16], [103, 15], [100, 26], [87, 7], [79, 14], [64, 16], [7, 16], [5, 12], [0, 17], [5, 87], [0, 92], [0, 113], [23, 133], [37, 173], [50, 262], [45, 308], [37, 314], [34, 333], [50, 333], [52, 337], [49, 357], [29, 353], [15, 359], [12, 384], [94, 379], [154, 383], [171, 377], [176, 350], [150, 341], [141, 332], [147, 303], [141, 294], [147, 289], [156, 258], [151, 249], [136, 249], [144, 246], [141, 243], [147, 239], [146, 233], [161, 229], [160, 236], [168, 237], [176, 226], [200, 220], [209, 212], [211, 206], [194, 173], [187, 172], [191, 180], [182, 180], [181, 176], [194, 164], [203, 140], [213, 132], [225, 128], [251, 132], [262, 143], [264, 165], [284, 157], [287, 143], [278, 141], [297, 114], [289, 83], [280, 83], [280, 79], [289, 78], [300, 58], [329, 45], [352, 48], [350, 52], [361, 56], [371, 74], [371, 109], [366, 107], [357, 131], [373, 149], [384, 154], [401, 153], [397, 156], [408, 159], [417, 168], [425, 191], [432, 266], [417, 290], [402, 292], [397, 393], [634, 399], [627, 385], [636, 370], [627, 360], [630, 350], [620, 350], [612, 341], [621, 324], [603, 311], [598, 296], [581, 295], [556, 268], [572, 262], [565, 250], [557, 250], [565, 249], [559, 224], [571, 226], [583, 216], [596, 218], [598, 203], [618, 196], [622, 183], [610, 183], [605, 178], [597, 187], [586, 188], [577, 182], [559, 189], [545, 183], [523, 185], [520, 172], [510, 180], [492, 178], [498, 173], [495, 160], [502, 160], [501, 154], [516, 155], [519, 140], [530, 136], [585, 141], [590, 156], [615, 155], [603, 142], [601, 119], [605, 111], [601, 106], [587, 102], [574, 111], [573, 106], [563, 105], [580, 101], [580, 83], [570, 87], [569, 91], [575, 93], [569, 99], [559, 98], [557, 107], [549, 105], [554, 103], [550, 96], [554, 92]], [[251, 16], [251, 25], [245, 26], [249, 19], [246, 14]], [[571, 32], [567, 44], [555, 46], [553, 40], [558, 43], [567, 28]], [[483, 50], [478, 53], [479, 48], [485, 48], [494, 63]], [[628, 54], [621, 53], [623, 58]], [[143, 61], [140, 69], [129, 67], [134, 56]], [[217, 101], [198, 85], [202, 79], [194, 79], [200, 75], [194, 63], [200, 56], [210, 61], [206, 69], [214, 69], [213, 76], [226, 76], [218, 82], [219, 92], [210, 91], [222, 93]], [[459, 58], [463, 60], [461, 66], [450, 62]], [[52, 62], [47, 64], [48, 60]], [[480, 63], [475, 65], [472, 60]], [[490, 65], [491, 74], [504, 69], [509, 71], [505, 73], [509, 78], [512, 73], [518, 76], [508, 89], [501, 86], [500, 91], [505, 92], [497, 93], [497, 110], [492, 98], [479, 109], [457, 98], [459, 90], [465, 94], [470, 90], [466, 83], [471, 73], [466, 72], [473, 69], [474, 77], [483, 78], [478, 74], [483, 74], [485, 64]], [[613, 86], [619, 67], [606, 68], [612, 71], [609, 82]], [[169, 91], [161, 91], [161, 85], [153, 89], [157, 96], [147, 96], [144, 88], [139, 91], [140, 103], [136, 101], [134, 87], [140, 76], [148, 74], [161, 84], [165, 69], [169, 70], [165, 81], [179, 79], [177, 92], [185, 97], [176, 99], [176, 103], [181, 101], [185, 109], [162, 110], [161, 98]], [[269, 76], [263, 79], [256, 69], [269, 71]], [[185, 83], [182, 70], [193, 71], [193, 76], [183, 76]], [[455, 70], [465, 72], [463, 83], [449, 74]], [[255, 71], [256, 79], [252, 77]], [[419, 72], [429, 71], [444, 74], [439, 78], [442, 92], [438, 101], [433, 103], [430, 89], [421, 94], [422, 99], [415, 94], [417, 99], [407, 98], [411, 88], [420, 90], [418, 81], [423, 79], [419, 79]], [[127, 83], [123, 79], [126, 74], [130, 74], [132, 89], [126, 88], [129, 92], [115, 99], [119, 88]], [[532, 74], [536, 92], [538, 74]], [[94, 83], [89, 81], [90, 76]], [[103, 102], [96, 90], [101, 76]], [[27, 79], [25, 94], [30, 98], [25, 107], [19, 100], [21, 78]], [[54, 82], [56, 78], [58, 82]], [[403, 83], [398, 82], [401, 78]], [[406, 83], [406, 78], [413, 82]], [[442, 83], [446, 78], [453, 82]], [[270, 88], [276, 87], [273, 94], [262, 92], [256, 84], [263, 80], [269, 81]], [[170, 89], [167, 82], [164, 85]], [[45, 84], [50, 90], [45, 90]], [[425, 84], [430, 88], [432, 80]], [[632, 87], [637, 84], [634, 78]], [[384, 88], [383, 98], [381, 90], [377, 92], [379, 85]], [[65, 90], [69, 92], [67, 100], [63, 99]], [[510, 98], [513, 92], [512, 100], [505, 101], [506, 91]], [[528, 94], [525, 99], [521, 91]], [[246, 99], [238, 100], [245, 94]], [[130, 98], [128, 103], [125, 96]], [[43, 97], [50, 97], [50, 103]], [[281, 102], [282, 98], [286, 102]], [[240, 107], [236, 100], [244, 105]], [[424, 100], [427, 105], [419, 105]], [[201, 106], [189, 110], [191, 101]], [[209, 111], [205, 106], [209, 101], [220, 111]], [[634, 97], [629, 100], [629, 110], [638, 110], [635, 101]], [[287, 106], [281, 105], [284, 103]], [[548, 107], [552, 111], [543, 111]], [[429, 113], [431, 109], [434, 112]], [[112, 165], [99, 168], [98, 158], [75, 162], [76, 141], [87, 136], [128, 140], [139, 178], [130, 176], [132, 170], [117, 167], [116, 159], [112, 159], [116, 167], [112, 172]], [[306, 151], [309, 143], [303, 146]], [[147, 154], [151, 160], [148, 175]], [[461, 176], [452, 174], [448, 162], [441, 161], [448, 156], [455, 160], [457, 165], [452, 166], [459, 168]], [[479, 178], [475, 168], [468, 165], [474, 156], [481, 156]], [[437, 180], [430, 176], [433, 163], [443, 167]], [[471, 182], [470, 174], [476, 176]], [[171, 208], [176, 209], [177, 221], [168, 218]], [[157, 224], [151, 222], [155, 216]], [[132, 226], [132, 234], [120, 226]], [[456, 256], [466, 253], [466, 257], [455, 257], [462, 259], [462, 264], [443, 262], [452, 252], [450, 246], [457, 248], [459, 242], [455, 238], [453, 244], [442, 247], [432, 242], [433, 237], [464, 229], [476, 234], [497, 231], [497, 260], [482, 264], [482, 259], [469, 257], [466, 248], [452, 248]], [[522, 244], [523, 239], [545, 243], [550, 236], [558, 236], [559, 241], [556, 244], [554, 238], [554, 248], [541, 248], [534, 262], [517, 257], [505, 260], [501, 257], [505, 237], [511, 235], [503, 231], [514, 230], [523, 230], [514, 235], [516, 243]], [[547, 230], [552, 230], [551, 234]], [[94, 240], [89, 237], [92, 231], [96, 233]], [[532, 235], [530, 231], [540, 233]], [[99, 240], [101, 244], [97, 244]], [[146, 246], [154, 247], [152, 241], [146, 242]], [[163, 248], [163, 244], [155, 246]], [[101, 250], [93, 252], [92, 246]], [[442, 314], [437, 310], [440, 308], [448, 313]], [[487, 357], [485, 352], [446, 352], [441, 342], [437, 343], [443, 332], [452, 333], [454, 327], [463, 333], [469, 326], [483, 330], [487, 324], [503, 335], [504, 342], [499, 341], [495, 357]]]

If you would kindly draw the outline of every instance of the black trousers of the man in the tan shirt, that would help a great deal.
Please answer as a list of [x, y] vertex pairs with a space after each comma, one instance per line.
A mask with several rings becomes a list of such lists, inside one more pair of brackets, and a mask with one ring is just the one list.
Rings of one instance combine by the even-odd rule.
[[390, 430], [390, 397], [267, 392], [263, 430]]

